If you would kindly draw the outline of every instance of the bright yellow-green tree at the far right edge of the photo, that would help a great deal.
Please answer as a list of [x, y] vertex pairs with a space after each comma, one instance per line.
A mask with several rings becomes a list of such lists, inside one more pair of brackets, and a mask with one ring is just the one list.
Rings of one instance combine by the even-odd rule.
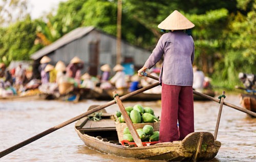
[[[248, 2], [248, 4], [251, 4]], [[247, 7], [243, 6], [243, 9]], [[238, 73], [256, 72], [256, 3], [247, 15], [238, 12], [230, 17], [229, 28], [225, 33], [225, 49], [219, 63], [215, 65], [216, 82], [222, 80], [223, 86], [232, 88], [240, 83]]]

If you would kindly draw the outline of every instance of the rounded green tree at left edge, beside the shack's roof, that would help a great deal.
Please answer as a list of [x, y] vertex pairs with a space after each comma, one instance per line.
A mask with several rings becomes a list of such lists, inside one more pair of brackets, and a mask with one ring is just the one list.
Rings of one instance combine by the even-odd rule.
[[28, 60], [33, 51], [36, 39], [36, 25], [27, 17], [6, 29], [2, 29], [0, 62], [10, 63], [12, 60]]

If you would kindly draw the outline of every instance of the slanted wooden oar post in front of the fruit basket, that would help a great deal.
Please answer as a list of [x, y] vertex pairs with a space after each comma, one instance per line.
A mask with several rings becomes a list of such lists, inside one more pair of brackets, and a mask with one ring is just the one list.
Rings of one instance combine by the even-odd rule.
[[139, 137], [139, 134], [138, 132], [136, 131], [136, 129], [134, 128], [134, 125], [133, 125], [133, 122], [131, 121], [129, 115], [127, 114], [118, 94], [116, 91], [113, 91], [112, 92], [113, 96], [114, 96], [114, 99], [116, 100], [116, 103], [123, 115], [123, 118], [124, 118], [124, 121], [127, 125], [127, 127], [129, 128], [130, 132], [131, 132], [131, 135], [133, 136], [133, 140], [135, 142], [135, 144], [138, 146], [138, 147], [142, 147], [142, 142], [140, 140], [140, 137]]

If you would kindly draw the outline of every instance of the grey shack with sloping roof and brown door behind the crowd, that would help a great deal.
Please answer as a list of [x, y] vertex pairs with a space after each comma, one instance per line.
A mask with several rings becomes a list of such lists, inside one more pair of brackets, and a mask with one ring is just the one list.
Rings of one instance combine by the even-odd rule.
[[[96, 76], [100, 74], [100, 66], [110, 64], [116, 65], [116, 37], [106, 34], [94, 27], [77, 28], [62, 36], [52, 44], [31, 55], [34, 60], [34, 68], [39, 66], [43, 56], [52, 59], [55, 65], [57, 61], [63, 61], [66, 65], [77, 56], [84, 61], [82, 73], [88, 72]], [[125, 41], [121, 42], [121, 62], [133, 63], [135, 67], [142, 67], [150, 52]]]

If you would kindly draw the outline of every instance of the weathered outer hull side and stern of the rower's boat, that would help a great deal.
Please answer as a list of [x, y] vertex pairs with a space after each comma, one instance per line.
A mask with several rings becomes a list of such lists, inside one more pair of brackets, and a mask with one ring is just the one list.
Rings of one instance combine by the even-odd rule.
[[201, 148], [197, 160], [209, 160], [214, 158], [221, 146], [221, 143], [214, 141], [209, 132], [194, 132], [189, 134], [183, 141], [159, 143], [145, 147], [129, 147], [105, 142], [100, 138], [84, 134], [76, 129], [78, 136], [86, 146], [102, 153], [114, 154], [122, 157], [133, 157], [140, 159], [187, 161], [195, 158], [198, 142], [201, 139]]

